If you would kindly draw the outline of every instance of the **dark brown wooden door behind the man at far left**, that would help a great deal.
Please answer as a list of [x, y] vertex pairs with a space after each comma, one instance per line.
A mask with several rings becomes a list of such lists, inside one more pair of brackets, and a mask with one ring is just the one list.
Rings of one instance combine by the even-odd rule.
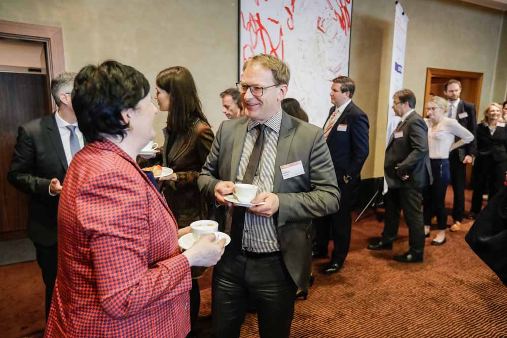
[[18, 127], [51, 113], [46, 74], [0, 72], [0, 240], [26, 237], [28, 196], [7, 181]]

